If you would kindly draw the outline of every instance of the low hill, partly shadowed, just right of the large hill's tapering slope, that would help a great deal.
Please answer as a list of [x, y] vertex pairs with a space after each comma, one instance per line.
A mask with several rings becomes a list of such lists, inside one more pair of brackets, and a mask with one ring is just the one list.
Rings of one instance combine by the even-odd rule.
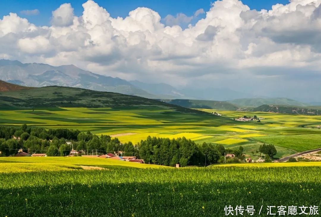
[[218, 110], [232, 110], [238, 109], [237, 106], [224, 101], [213, 101], [213, 100], [194, 100], [194, 99], [160, 99], [160, 101], [182, 106], [185, 108], [208, 108]]

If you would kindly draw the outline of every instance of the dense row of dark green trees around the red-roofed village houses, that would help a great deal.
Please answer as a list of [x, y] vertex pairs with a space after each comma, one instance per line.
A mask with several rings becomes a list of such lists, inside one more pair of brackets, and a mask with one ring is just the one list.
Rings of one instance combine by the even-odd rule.
[[[20, 139], [17, 139], [18, 137]], [[68, 145], [67, 141], [71, 141], [72, 144]], [[268, 149], [266, 146], [260, 147], [260, 149], [264, 149], [263, 153], [272, 147], [269, 146], [270, 149]], [[47, 130], [42, 127], [28, 127], [25, 124], [21, 127], [1, 126], [1, 155], [13, 156], [21, 148], [29, 154], [46, 153], [47, 156], [67, 156], [72, 149], [89, 155], [111, 152], [119, 156], [136, 156], [144, 159], [145, 163], [166, 166], [175, 166], [176, 164], [204, 166], [225, 161], [236, 163], [245, 159], [242, 146], [226, 149], [219, 144], [196, 144], [185, 137], [169, 139], [149, 136], [137, 144], [132, 142], [122, 144], [118, 138], [111, 138], [108, 135], [97, 136], [90, 131], [81, 132], [63, 128]], [[225, 159], [225, 153], [234, 154], [235, 157]]]

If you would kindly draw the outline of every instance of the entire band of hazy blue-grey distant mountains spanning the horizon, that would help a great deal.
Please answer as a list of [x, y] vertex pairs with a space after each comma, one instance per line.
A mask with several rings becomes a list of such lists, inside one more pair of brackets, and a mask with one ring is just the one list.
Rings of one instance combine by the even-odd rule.
[[[0, 80], [27, 87], [65, 86], [89, 90], [116, 92], [149, 99], [197, 99], [226, 101], [239, 108], [261, 105], [309, 106], [320, 102], [301, 103], [288, 98], [257, 98], [254, 94], [228, 88], [188, 87], [178, 90], [165, 83], [144, 83], [103, 76], [74, 65], [51, 66], [43, 63], [22, 63], [0, 60]], [[210, 104], [213, 104], [211, 102]], [[222, 103], [221, 103], [222, 105]], [[233, 106], [230, 106], [232, 108]]]

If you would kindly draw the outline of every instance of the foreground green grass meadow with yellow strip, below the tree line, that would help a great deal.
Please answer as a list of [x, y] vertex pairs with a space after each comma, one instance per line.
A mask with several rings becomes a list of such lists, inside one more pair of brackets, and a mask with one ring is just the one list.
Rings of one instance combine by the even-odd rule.
[[[319, 162], [179, 169], [119, 164], [84, 157], [3, 157], [0, 213], [8, 217], [224, 216], [226, 205], [253, 205], [253, 216], [259, 216], [261, 206], [260, 216], [265, 216], [266, 206], [321, 206]], [[85, 170], [80, 165], [104, 169]]]

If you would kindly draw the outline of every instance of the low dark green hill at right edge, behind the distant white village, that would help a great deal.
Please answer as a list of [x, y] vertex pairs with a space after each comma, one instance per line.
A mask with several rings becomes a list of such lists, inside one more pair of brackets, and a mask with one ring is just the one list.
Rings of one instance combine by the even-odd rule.
[[321, 109], [307, 108], [307, 107], [293, 107], [293, 106], [262, 105], [256, 108], [242, 109], [242, 110], [274, 112], [274, 113], [295, 114], [295, 115], [321, 115]]

